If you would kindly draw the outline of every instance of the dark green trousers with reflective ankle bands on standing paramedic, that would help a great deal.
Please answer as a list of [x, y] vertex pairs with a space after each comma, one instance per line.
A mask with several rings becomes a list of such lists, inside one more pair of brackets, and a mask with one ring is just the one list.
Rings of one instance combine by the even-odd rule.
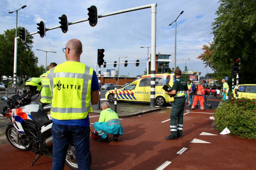
[[182, 135], [182, 129], [183, 129], [183, 112], [184, 107], [186, 104], [185, 97], [182, 97], [180, 99], [174, 99], [173, 105], [172, 105], [172, 111], [170, 115], [170, 128], [171, 128], [171, 135], [177, 136], [177, 133]]

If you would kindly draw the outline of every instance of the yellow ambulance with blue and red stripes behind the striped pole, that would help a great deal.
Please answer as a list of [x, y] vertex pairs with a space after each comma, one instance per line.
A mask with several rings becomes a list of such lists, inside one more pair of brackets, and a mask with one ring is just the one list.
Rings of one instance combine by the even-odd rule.
[[[150, 78], [151, 75], [143, 75], [134, 80], [130, 85], [117, 89], [117, 100], [150, 102]], [[165, 103], [173, 102], [173, 98], [165, 94], [163, 86], [169, 84], [171, 87], [176, 77], [174, 74], [156, 74], [156, 105], [163, 106]], [[105, 98], [114, 102], [115, 90], [106, 93]]]

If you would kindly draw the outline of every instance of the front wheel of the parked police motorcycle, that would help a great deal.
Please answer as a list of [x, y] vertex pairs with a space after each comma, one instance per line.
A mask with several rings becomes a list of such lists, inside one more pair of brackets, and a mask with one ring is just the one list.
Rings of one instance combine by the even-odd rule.
[[[30, 143], [28, 143], [28, 145], [26, 145], [27, 148], [25, 148], [19, 141], [20, 135], [17, 132], [17, 130], [14, 128], [14, 126], [7, 126], [7, 128], [5, 129], [5, 135], [7, 140], [9, 141], [10, 144], [12, 144], [12, 146], [16, 149], [19, 149], [21, 151], [28, 151], [27, 148], [30, 148], [31, 145]], [[24, 133], [21, 133], [21, 135], [25, 135]], [[26, 137], [28, 139], [28, 137]]]

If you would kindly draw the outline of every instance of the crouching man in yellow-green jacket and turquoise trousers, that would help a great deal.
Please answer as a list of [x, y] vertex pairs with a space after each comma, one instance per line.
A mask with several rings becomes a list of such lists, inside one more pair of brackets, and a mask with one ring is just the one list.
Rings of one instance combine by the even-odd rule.
[[99, 142], [108, 143], [108, 134], [113, 134], [113, 141], [118, 141], [119, 135], [123, 135], [123, 127], [119, 121], [116, 112], [109, 108], [109, 103], [104, 102], [101, 104], [102, 111], [100, 113], [99, 122], [94, 123], [94, 128], [101, 137]]

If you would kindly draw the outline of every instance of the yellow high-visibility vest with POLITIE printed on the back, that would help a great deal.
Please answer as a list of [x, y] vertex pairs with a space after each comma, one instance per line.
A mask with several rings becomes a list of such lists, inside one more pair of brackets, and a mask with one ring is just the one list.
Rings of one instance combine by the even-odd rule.
[[85, 119], [92, 112], [93, 69], [79, 62], [64, 62], [48, 72], [52, 92], [51, 116], [57, 120]]

